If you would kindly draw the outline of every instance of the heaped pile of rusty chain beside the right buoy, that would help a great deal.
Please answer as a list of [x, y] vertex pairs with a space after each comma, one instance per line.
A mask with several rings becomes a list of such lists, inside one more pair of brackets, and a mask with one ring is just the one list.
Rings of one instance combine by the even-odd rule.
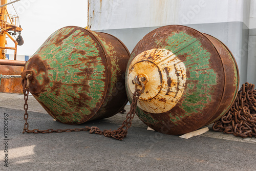
[[256, 137], [256, 90], [254, 84], [242, 85], [229, 111], [212, 125], [212, 129], [240, 137]]

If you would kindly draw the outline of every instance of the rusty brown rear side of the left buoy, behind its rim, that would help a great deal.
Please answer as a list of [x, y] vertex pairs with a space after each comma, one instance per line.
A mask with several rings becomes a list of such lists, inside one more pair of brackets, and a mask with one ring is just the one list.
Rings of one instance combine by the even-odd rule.
[[101, 106], [97, 115], [92, 118], [94, 119], [97, 117], [97, 119], [99, 119], [115, 115], [117, 113], [116, 110], [118, 106], [116, 104], [122, 104], [121, 108], [118, 106], [119, 112], [128, 102], [125, 92], [124, 78], [130, 52], [117, 37], [106, 33], [91, 32], [99, 38], [106, 50], [108, 61], [111, 61], [109, 66], [111, 69], [109, 72], [111, 78], [109, 81], [111, 83], [110, 89], [108, 89], [106, 94], [107, 96], [105, 97], [104, 105]]

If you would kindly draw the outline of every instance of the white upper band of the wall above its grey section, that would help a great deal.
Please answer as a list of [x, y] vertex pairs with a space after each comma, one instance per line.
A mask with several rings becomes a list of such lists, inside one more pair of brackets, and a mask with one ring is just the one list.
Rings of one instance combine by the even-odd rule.
[[243, 22], [249, 27], [253, 20], [250, 0], [89, 0], [89, 4], [92, 30], [222, 22]]

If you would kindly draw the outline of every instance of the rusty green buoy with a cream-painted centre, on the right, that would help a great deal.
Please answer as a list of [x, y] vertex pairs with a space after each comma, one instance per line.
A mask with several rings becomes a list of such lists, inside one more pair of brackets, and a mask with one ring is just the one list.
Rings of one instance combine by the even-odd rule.
[[181, 135], [224, 115], [238, 91], [239, 74], [228, 49], [217, 39], [185, 26], [165, 26], [144, 36], [126, 70], [132, 80], [146, 77], [138, 117], [152, 129]]

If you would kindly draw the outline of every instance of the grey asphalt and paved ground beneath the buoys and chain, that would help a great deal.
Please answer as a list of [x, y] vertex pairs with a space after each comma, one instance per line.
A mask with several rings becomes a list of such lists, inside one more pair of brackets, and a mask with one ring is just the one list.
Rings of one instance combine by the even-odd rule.
[[[23, 95], [0, 93], [0, 170], [256, 170], [255, 137], [242, 139], [209, 126], [207, 133], [183, 139], [147, 131], [138, 117], [122, 141], [89, 132], [22, 134], [23, 103]], [[66, 125], [53, 121], [33, 96], [28, 104], [30, 129], [98, 126], [114, 130], [127, 113]]]

